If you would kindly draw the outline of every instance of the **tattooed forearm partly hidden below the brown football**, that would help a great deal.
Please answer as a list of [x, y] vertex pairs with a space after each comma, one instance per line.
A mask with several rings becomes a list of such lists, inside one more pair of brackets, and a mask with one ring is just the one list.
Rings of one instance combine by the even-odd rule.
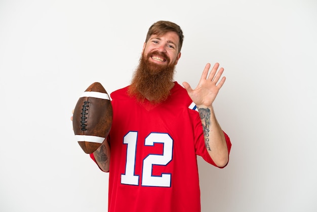
[[103, 171], [109, 171], [110, 147], [107, 139], [105, 139], [102, 145], [94, 152], [94, 156], [98, 166]]

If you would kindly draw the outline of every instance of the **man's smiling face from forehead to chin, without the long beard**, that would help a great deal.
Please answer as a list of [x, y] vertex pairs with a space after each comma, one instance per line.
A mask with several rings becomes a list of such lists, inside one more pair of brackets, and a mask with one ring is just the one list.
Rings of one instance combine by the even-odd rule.
[[159, 66], [176, 65], [181, 53], [178, 52], [179, 37], [174, 31], [169, 31], [162, 36], [152, 34], [144, 43], [142, 55], [149, 63]]

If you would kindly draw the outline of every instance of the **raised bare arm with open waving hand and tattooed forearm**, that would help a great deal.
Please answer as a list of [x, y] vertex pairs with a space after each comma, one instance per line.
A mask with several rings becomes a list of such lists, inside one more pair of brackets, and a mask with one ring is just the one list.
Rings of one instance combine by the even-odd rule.
[[219, 63], [216, 63], [208, 76], [210, 64], [207, 63], [201, 80], [194, 90], [186, 82], [183, 83], [183, 86], [187, 90], [192, 101], [197, 105], [203, 125], [205, 145], [208, 153], [217, 166], [223, 167], [228, 162], [229, 153], [223, 131], [216, 119], [212, 107], [220, 88], [225, 82], [225, 77], [222, 77], [220, 80], [224, 69], [220, 68], [217, 73], [218, 67]]

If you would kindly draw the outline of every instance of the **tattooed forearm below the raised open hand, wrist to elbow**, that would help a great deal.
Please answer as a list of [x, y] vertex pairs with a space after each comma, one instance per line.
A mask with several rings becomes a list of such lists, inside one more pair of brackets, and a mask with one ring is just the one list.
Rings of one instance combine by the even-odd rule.
[[223, 131], [211, 107], [198, 107], [204, 130], [205, 145], [217, 166], [228, 162], [228, 149]]

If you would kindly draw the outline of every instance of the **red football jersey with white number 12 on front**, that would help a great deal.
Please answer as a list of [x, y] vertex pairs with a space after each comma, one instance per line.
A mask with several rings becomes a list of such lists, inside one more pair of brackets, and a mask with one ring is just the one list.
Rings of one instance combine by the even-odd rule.
[[187, 91], [175, 82], [168, 99], [153, 105], [136, 101], [127, 90], [111, 93], [109, 211], [201, 211], [196, 155], [216, 164]]

